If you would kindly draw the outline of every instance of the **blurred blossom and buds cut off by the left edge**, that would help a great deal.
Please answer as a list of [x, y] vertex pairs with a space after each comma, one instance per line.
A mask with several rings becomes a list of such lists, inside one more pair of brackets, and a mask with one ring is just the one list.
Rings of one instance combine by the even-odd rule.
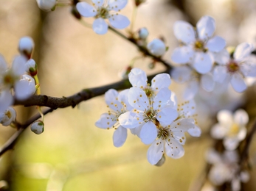
[[25, 100], [35, 93], [33, 47], [32, 38], [22, 37], [18, 44], [20, 55], [14, 57], [11, 67], [0, 54], [0, 123], [3, 126], [10, 126], [15, 121], [15, 109], [11, 107], [15, 99]]

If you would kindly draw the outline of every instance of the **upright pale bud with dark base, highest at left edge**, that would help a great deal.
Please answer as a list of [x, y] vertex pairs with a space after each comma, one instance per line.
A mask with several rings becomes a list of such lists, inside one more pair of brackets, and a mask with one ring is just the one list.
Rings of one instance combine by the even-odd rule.
[[21, 55], [24, 55], [25, 57], [27, 57], [27, 59], [30, 59], [33, 48], [34, 41], [31, 37], [21, 37], [18, 43], [18, 51]]

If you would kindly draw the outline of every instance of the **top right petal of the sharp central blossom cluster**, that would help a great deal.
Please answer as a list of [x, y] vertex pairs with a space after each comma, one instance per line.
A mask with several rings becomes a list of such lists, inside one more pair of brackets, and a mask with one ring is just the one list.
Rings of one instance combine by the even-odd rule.
[[151, 81], [151, 87], [159, 91], [163, 87], [169, 87], [171, 84], [170, 75], [167, 73], [157, 74]]

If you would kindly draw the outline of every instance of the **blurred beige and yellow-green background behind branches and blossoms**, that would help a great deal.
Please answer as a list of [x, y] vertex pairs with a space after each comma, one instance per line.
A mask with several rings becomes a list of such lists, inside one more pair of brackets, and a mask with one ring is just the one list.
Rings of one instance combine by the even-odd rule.
[[[117, 82], [118, 73], [140, 55], [135, 46], [111, 31], [97, 35], [80, 24], [70, 13], [70, 7], [42, 12], [35, 0], [0, 0], [0, 4], [0, 53], [11, 64], [18, 54], [18, 40], [32, 37], [33, 58], [38, 63], [41, 93], [45, 95], [69, 96], [83, 88]], [[131, 18], [133, 7], [134, 1], [129, 0], [122, 14]], [[134, 29], [147, 27], [149, 41], [164, 37], [169, 46], [164, 59], [170, 60], [178, 45], [173, 23], [184, 20], [196, 25], [203, 15], [215, 18], [215, 35], [224, 37], [228, 46], [242, 42], [256, 45], [256, 1], [252, 0], [147, 0], [138, 9]], [[161, 65], [149, 70], [150, 63], [149, 58], [144, 58], [134, 66], [149, 74], [164, 70]], [[179, 101], [184, 87], [175, 82], [170, 86]], [[255, 87], [249, 92], [245, 95], [252, 98]], [[115, 148], [113, 131], [94, 126], [106, 112], [103, 96], [74, 109], [58, 109], [45, 116], [43, 134], [27, 129], [15, 149], [0, 158], [0, 187], [6, 184], [7, 190], [15, 191], [196, 190], [204, 176], [205, 151], [212, 145], [207, 131], [215, 123], [215, 112], [237, 107], [246, 100], [240, 94], [232, 95], [229, 100], [232, 104], [227, 98], [221, 106], [212, 104], [206, 98], [209, 94], [198, 103], [203, 135], [200, 138], [187, 135], [184, 157], [167, 158], [162, 167], [150, 165], [146, 157], [148, 145], [134, 135], [128, 134], [125, 145]], [[35, 107], [15, 109], [20, 122], [36, 112]], [[251, 114], [254, 112], [251, 109]], [[15, 129], [0, 126], [0, 145], [14, 132]], [[255, 155], [252, 156], [256, 162]], [[246, 187], [256, 187], [253, 175]]]

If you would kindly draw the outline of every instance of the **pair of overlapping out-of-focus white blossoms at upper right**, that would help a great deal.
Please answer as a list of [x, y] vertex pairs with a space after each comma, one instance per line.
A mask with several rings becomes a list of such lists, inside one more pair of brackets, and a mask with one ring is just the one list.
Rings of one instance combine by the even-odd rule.
[[229, 82], [236, 92], [242, 93], [247, 87], [246, 79], [256, 76], [252, 44], [241, 43], [234, 52], [227, 51], [224, 38], [213, 36], [215, 20], [212, 17], [202, 17], [196, 29], [185, 21], [176, 21], [173, 29], [180, 46], [171, 56], [179, 65], [171, 76], [176, 82], [187, 82], [184, 98], [193, 98], [200, 86], [212, 92], [215, 86], [227, 87]]

